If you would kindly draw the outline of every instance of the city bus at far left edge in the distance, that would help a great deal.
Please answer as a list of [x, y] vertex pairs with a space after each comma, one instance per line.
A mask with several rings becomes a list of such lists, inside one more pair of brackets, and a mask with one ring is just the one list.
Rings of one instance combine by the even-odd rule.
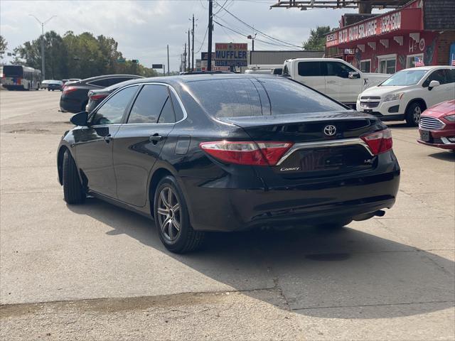
[[4, 65], [1, 85], [8, 90], [38, 90], [41, 85], [41, 70], [22, 65]]

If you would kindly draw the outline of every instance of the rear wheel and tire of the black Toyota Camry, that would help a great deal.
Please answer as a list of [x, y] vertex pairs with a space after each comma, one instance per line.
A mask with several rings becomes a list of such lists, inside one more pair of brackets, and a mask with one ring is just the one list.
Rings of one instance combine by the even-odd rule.
[[205, 233], [191, 227], [185, 198], [171, 175], [162, 178], [156, 186], [154, 218], [159, 238], [169, 251], [183, 254], [202, 246]]

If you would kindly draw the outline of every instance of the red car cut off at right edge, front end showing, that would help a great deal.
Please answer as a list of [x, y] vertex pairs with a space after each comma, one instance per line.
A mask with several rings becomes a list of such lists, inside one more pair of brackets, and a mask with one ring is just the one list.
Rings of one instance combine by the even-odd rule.
[[422, 112], [419, 133], [419, 144], [455, 151], [455, 99]]

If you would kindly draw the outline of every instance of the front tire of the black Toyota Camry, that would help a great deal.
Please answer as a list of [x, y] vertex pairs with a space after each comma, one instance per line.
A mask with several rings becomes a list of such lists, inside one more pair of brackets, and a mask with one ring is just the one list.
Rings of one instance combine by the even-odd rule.
[[80, 183], [77, 167], [69, 151], [63, 155], [63, 197], [70, 205], [82, 204], [85, 201], [85, 190]]

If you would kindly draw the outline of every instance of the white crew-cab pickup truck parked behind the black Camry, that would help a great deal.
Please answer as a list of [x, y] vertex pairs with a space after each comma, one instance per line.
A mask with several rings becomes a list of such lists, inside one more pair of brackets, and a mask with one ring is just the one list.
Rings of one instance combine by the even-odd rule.
[[390, 75], [366, 73], [336, 58], [295, 58], [284, 61], [282, 75], [355, 108], [360, 92]]

